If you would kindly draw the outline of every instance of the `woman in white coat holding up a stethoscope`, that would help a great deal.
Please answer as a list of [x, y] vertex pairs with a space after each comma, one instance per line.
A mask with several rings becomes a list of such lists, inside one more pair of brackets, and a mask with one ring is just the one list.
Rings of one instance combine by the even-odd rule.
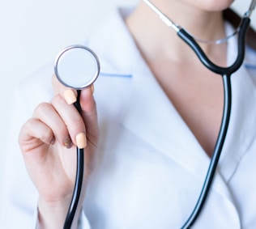
[[[234, 30], [223, 18], [232, 0], [152, 2], [200, 39], [218, 40]], [[236, 57], [236, 40], [201, 47], [217, 65], [228, 66]], [[6, 193], [15, 195], [7, 205], [16, 218], [10, 228], [63, 227], [76, 146], [85, 147], [86, 169], [74, 228], [180, 228], [194, 208], [219, 132], [222, 78], [207, 70], [143, 1], [132, 11], [111, 15], [86, 45], [99, 56], [101, 71], [95, 90], [82, 91], [81, 116], [72, 105], [75, 91], [55, 76], [54, 93], [49, 93], [45, 75], [51, 69], [19, 91], [25, 96], [18, 101], [23, 119], [28, 117], [23, 104], [32, 109], [39, 104], [19, 134], [34, 186], [14, 152], [8, 168], [15, 166], [19, 174], [6, 184]], [[232, 78], [233, 110], [223, 155], [194, 228], [256, 227], [256, 182], [248, 179], [256, 172], [255, 67], [256, 53], [248, 46], [245, 63]], [[6, 221], [8, 227], [11, 220]]]

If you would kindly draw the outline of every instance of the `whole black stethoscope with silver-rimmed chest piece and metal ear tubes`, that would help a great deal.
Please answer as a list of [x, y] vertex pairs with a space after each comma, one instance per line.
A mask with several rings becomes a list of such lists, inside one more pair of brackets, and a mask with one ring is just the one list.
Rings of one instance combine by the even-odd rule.
[[[211, 70], [216, 74], [220, 74], [223, 78], [224, 85], [224, 111], [223, 117], [220, 125], [220, 132], [215, 143], [215, 149], [211, 157], [211, 162], [207, 170], [207, 176], [203, 183], [203, 188], [198, 197], [198, 201], [194, 206], [194, 210], [190, 214], [190, 217], [187, 219], [186, 223], [181, 227], [182, 229], [190, 228], [198, 215], [201, 213], [205, 201], [207, 199], [209, 190], [211, 188], [212, 181], [214, 179], [215, 170], [217, 168], [221, 151], [224, 146], [224, 140], [228, 131], [229, 118], [231, 113], [231, 102], [232, 102], [232, 88], [231, 88], [231, 75], [236, 72], [242, 65], [245, 57], [245, 35], [247, 29], [250, 26], [250, 15], [254, 11], [256, 0], [252, 0], [249, 10], [245, 12], [241, 20], [240, 26], [237, 28], [237, 31], [232, 35], [225, 37], [224, 39], [215, 40], [215, 43], [222, 43], [228, 40], [230, 37], [238, 34], [238, 52], [237, 59], [233, 62], [233, 65], [228, 67], [216, 66], [203, 52], [203, 50], [198, 45], [198, 42], [207, 42], [204, 40], [199, 40], [191, 36], [190, 33], [186, 32], [184, 28], [181, 28], [179, 25], [173, 23], [166, 15], [164, 15], [156, 6], [154, 6], [150, 1], [143, 0], [147, 5], [160, 16], [160, 19], [167, 24], [170, 28], [173, 28], [177, 32], [177, 36], [180, 36], [182, 40], [186, 42], [187, 45], [190, 45], [190, 48], [194, 50], [194, 53], [198, 56], [199, 60], [203, 63], [207, 69]], [[211, 41], [210, 41], [211, 42]], [[73, 45], [62, 50], [58, 54], [58, 57], [55, 61], [54, 71], [61, 83], [66, 87], [74, 88], [78, 90], [78, 98], [75, 103], [75, 107], [81, 112], [81, 107], [79, 104], [79, 95], [80, 91], [84, 87], [90, 86], [96, 81], [100, 73], [100, 61], [96, 56], [96, 53], [92, 49], [88, 49], [83, 45]], [[75, 211], [79, 203], [79, 197], [81, 194], [81, 189], [83, 186], [83, 154], [84, 150], [77, 148], [77, 170], [75, 178], [75, 188], [73, 197], [70, 202], [70, 208], [66, 214], [66, 221], [64, 224], [64, 229], [69, 229], [72, 225], [73, 219], [75, 217]]]

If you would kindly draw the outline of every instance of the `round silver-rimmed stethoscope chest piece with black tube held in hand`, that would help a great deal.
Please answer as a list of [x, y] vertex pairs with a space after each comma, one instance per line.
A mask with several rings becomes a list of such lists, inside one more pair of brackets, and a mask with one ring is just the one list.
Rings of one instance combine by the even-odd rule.
[[[54, 71], [58, 80], [66, 87], [77, 90], [78, 96], [75, 108], [82, 111], [80, 106], [80, 93], [84, 87], [89, 87], [96, 81], [100, 73], [100, 61], [92, 49], [83, 45], [72, 45], [63, 49], [58, 54]], [[75, 187], [70, 202], [70, 208], [66, 214], [64, 229], [70, 229], [75, 218], [75, 212], [79, 204], [79, 197], [83, 188], [84, 149], [77, 147], [77, 169]]]

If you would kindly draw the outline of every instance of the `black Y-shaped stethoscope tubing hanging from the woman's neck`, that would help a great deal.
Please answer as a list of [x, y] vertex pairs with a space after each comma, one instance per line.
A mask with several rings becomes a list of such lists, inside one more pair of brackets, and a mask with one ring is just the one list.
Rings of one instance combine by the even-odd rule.
[[228, 132], [228, 124], [230, 120], [231, 114], [231, 106], [232, 106], [232, 87], [231, 87], [231, 75], [237, 71], [245, 58], [245, 36], [247, 29], [250, 25], [250, 18], [244, 17], [241, 21], [240, 30], [238, 33], [238, 51], [237, 51], [237, 59], [233, 62], [233, 65], [228, 67], [220, 67], [216, 66], [209, 58], [203, 53], [203, 50], [197, 44], [192, 36], [187, 33], [184, 29], [181, 29], [177, 32], [177, 35], [181, 37], [190, 47], [194, 50], [194, 53], [197, 54], [199, 60], [206, 66], [209, 70], [215, 72], [216, 74], [220, 74], [223, 78], [223, 86], [224, 86], [224, 111], [223, 117], [220, 125], [220, 131], [215, 143], [215, 149], [213, 155], [211, 157], [211, 162], [209, 164], [207, 170], [207, 176], [203, 182], [203, 188], [198, 197], [198, 201], [194, 206], [194, 210], [190, 214], [190, 217], [187, 219], [186, 223], [181, 227], [181, 229], [190, 228], [198, 215], [203, 210], [203, 206], [205, 201], [207, 200], [209, 190], [211, 189], [211, 184], [214, 180], [215, 170], [218, 166], [220, 155], [224, 146], [224, 141]]

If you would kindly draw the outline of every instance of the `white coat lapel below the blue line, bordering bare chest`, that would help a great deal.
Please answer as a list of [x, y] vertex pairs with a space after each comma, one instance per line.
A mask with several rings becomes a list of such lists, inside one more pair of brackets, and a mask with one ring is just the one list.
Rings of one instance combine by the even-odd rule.
[[[195, 164], [207, 164], [201, 146], [144, 62], [133, 76], [122, 125], [191, 172]], [[205, 172], [205, 169], [196, 167], [196, 173]]]

